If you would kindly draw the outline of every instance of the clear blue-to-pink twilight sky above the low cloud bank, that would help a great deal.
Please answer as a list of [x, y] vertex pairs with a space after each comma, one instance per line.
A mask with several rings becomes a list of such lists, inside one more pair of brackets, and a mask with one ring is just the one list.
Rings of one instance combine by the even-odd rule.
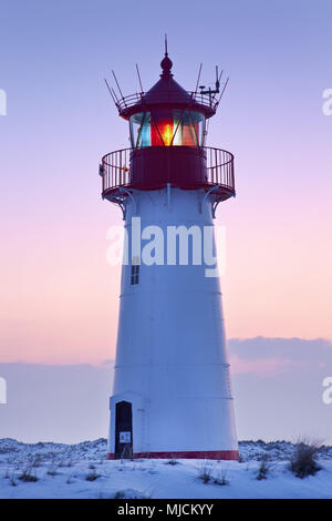
[[116, 206], [102, 155], [128, 146], [103, 79], [125, 94], [157, 80], [164, 33], [175, 79], [230, 81], [208, 144], [236, 156], [222, 276], [228, 338], [332, 339], [332, 4], [318, 0], [0, 2], [2, 362], [114, 359], [121, 268], [106, 263]]

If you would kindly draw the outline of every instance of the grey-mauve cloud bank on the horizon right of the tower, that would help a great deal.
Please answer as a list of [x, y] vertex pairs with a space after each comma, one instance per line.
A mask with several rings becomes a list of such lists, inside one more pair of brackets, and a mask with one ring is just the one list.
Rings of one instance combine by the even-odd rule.
[[331, 341], [231, 339], [229, 353], [240, 439], [307, 435], [332, 443], [332, 406], [322, 400], [323, 379], [332, 375]]

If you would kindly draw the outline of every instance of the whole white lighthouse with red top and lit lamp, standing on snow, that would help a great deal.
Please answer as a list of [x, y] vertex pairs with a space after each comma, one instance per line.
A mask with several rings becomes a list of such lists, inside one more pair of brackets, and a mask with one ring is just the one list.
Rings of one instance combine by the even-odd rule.
[[235, 196], [234, 155], [206, 144], [220, 76], [189, 92], [167, 48], [160, 67], [147, 92], [110, 89], [131, 147], [100, 165], [125, 233], [107, 459], [236, 460], [214, 238], [217, 206]]

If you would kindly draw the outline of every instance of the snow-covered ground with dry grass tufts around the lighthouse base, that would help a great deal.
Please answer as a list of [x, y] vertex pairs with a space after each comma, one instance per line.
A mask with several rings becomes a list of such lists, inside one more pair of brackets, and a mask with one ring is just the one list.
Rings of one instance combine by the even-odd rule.
[[[321, 448], [321, 470], [304, 479], [289, 469], [292, 451], [284, 441], [242, 441], [240, 462], [106, 461], [104, 439], [73, 446], [0, 439], [0, 498], [332, 498], [332, 447]], [[263, 454], [270, 468], [258, 480]]]

